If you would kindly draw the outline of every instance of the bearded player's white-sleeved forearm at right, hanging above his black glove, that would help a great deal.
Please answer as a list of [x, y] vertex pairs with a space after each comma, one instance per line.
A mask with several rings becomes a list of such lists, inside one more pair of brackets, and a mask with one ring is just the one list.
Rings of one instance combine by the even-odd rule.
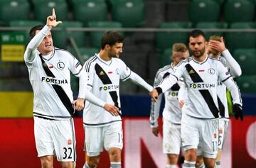
[[242, 106], [241, 94], [238, 88], [238, 85], [235, 83], [232, 77], [223, 82], [227, 89], [230, 91], [230, 94], [233, 99], [233, 103], [238, 103]]

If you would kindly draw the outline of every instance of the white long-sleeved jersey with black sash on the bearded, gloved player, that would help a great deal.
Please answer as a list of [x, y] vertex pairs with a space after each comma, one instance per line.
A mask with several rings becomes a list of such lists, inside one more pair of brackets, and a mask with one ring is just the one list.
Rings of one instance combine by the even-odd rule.
[[214, 58], [207, 56], [203, 62], [197, 62], [193, 60], [193, 57], [188, 57], [176, 67], [176, 72], [170, 74], [159, 84], [159, 87], [164, 92], [181, 77], [188, 88], [187, 100], [182, 109], [183, 113], [188, 116], [201, 119], [219, 118], [218, 81], [227, 81], [227, 84], [233, 89], [235, 96], [233, 102], [242, 103], [238, 88], [233, 87], [234, 83], [232, 78], [230, 79], [230, 72]]

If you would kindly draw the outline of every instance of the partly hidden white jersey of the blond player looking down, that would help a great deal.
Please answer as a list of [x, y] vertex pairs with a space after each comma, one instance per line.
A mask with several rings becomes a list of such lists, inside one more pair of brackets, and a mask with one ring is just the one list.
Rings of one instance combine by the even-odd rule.
[[[169, 76], [170, 73], [174, 72], [173, 63], [171, 65], [166, 65], [156, 72], [156, 77], [154, 79], [154, 86], [157, 86], [161, 80], [165, 77]], [[164, 92], [164, 111], [163, 118], [171, 123], [180, 124], [181, 123], [181, 108], [178, 106], [178, 90], [180, 89], [178, 81], [171, 89], [168, 89]], [[157, 120], [159, 118], [159, 111], [161, 105], [161, 95], [159, 96], [159, 100], [157, 102], [151, 101], [151, 112], [150, 112], [150, 123], [152, 127], [157, 126]]]

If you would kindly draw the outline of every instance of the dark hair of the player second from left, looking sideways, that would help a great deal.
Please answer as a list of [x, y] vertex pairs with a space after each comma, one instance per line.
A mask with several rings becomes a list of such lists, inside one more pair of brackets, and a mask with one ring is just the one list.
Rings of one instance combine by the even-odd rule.
[[122, 43], [124, 41], [124, 37], [119, 35], [117, 32], [112, 30], [107, 31], [104, 35], [102, 35], [101, 40], [101, 49], [103, 50], [105, 45], [115, 45], [115, 43]]

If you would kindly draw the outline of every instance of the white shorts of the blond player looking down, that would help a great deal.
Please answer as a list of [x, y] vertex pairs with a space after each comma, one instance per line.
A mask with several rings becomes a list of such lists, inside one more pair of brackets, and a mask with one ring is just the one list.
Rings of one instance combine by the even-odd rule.
[[178, 155], [181, 150], [181, 125], [164, 119], [163, 123], [163, 152]]

